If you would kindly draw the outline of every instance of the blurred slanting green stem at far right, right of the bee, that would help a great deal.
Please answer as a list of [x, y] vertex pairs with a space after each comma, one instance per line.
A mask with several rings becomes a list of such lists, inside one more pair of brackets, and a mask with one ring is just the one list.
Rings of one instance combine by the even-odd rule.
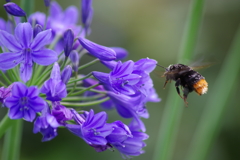
[[[214, 82], [212, 93], [207, 101], [199, 125], [193, 136], [187, 160], [204, 160], [213, 141], [217, 138], [225, 109], [229, 107], [228, 98], [237, 85], [240, 71], [240, 26], [232, 48], [227, 55], [222, 69]], [[227, 85], [226, 85], [227, 82]]]

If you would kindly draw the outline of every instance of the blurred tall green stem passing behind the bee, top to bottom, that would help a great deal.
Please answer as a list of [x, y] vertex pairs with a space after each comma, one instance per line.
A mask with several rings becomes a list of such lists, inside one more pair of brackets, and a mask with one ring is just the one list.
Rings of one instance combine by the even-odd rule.
[[[178, 58], [178, 61], [181, 63], [186, 63], [187, 60], [192, 58], [200, 27], [203, 6], [204, 0], [192, 0], [191, 2]], [[172, 159], [180, 119], [185, 109], [183, 104], [183, 100], [177, 95], [175, 87], [171, 86], [158, 132], [157, 146], [155, 147], [153, 160]]]

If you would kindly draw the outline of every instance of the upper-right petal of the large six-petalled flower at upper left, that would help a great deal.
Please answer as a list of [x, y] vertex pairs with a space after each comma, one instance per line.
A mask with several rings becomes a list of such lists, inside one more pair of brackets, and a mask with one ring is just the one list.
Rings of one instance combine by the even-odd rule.
[[51, 29], [38, 33], [31, 44], [32, 50], [34, 51], [40, 50], [42, 47], [51, 42], [51, 38], [52, 38]]

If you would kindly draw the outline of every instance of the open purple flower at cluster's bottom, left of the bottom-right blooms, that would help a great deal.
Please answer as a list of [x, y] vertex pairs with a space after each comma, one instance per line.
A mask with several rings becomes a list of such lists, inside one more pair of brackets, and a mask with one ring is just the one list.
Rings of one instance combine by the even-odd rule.
[[106, 146], [106, 136], [112, 133], [112, 125], [107, 124], [107, 114], [100, 112], [94, 114], [93, 110], [83, 115], [73, 112], [76, 124], [67, 124], [66, 127], [73, 134], [82, 138], [90, 146]]

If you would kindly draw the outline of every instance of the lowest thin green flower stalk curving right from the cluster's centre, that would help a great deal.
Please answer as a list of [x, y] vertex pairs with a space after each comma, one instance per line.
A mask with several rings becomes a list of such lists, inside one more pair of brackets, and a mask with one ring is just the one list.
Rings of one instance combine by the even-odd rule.
[[87, 107], [87, 106], [93, 106], [93, 105], [98, 105], [103, 102], [108, 101], [110, 98], [106, 97], [101, 100], [96, 100], [96, 101], [91, 101], [91, 102], [83, 102], [83, 103], [69, 103], [69, 102], [61, 102], [62, 105], [66, 107]]

